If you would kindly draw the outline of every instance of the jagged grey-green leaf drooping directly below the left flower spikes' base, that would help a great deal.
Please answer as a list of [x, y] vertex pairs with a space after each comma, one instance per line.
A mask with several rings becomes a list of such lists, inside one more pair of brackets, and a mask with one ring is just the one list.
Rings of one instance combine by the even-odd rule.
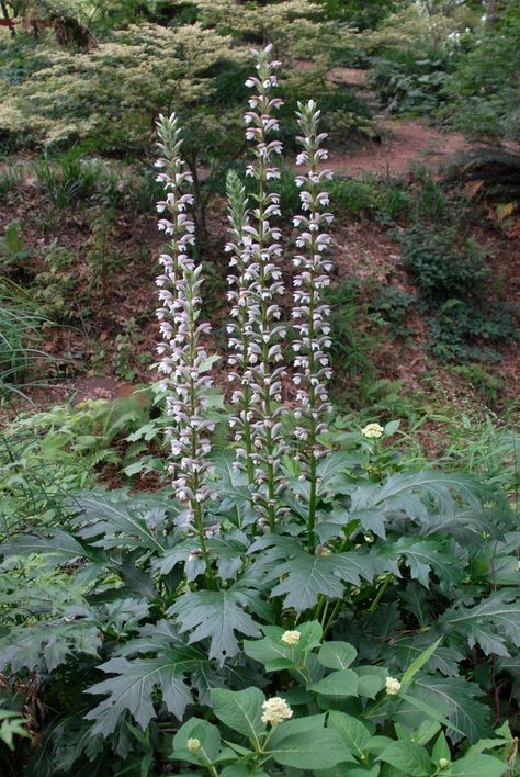
[[[250, 597], [258, 598], [256, 592]], [[173, 615], [181, 632], [191, 631], [190, 642], [210, 640], [210, 658], [223, 664], [238, 653], [235, 632], [260, 637], [260, 629], [245, 607], [250, 597], [239, 588], [199, 590], [183, 594], [168, 611]]]

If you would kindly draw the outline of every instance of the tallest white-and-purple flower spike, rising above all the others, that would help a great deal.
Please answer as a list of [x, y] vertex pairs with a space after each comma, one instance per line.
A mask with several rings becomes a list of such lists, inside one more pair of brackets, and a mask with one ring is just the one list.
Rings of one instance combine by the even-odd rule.
[[280, 178], [280, 170], [273, 162], [282, 151], [280, 140], [269, 140], [270, 133], [279, 128], [273, 112], [282, 101], [270, 95], [276, 86], [275, 70], [280, 63], [271, 60], [272, 46], [252, 54], [257, 60], [257, 76], [248, 78], [246, 86], [256, 93], [249, 99], [250, 110], [246, 113], [246, 138], [255, 143], [255, 161], [248, 166], [247, 174], [257, 181], [257, 193], [252, 195], [256, 209], [252, 224], [244, 232], [250, 238], [248, 245], [247, 278], [248, 344], [245, 373], [251, 375], [250, 404], [255, 406], [251, 424], [253, 448], [255, 499], [262, 519], [275, 530], [278, 507], [276, 494], [284, 487], [281, 462], [286, 450], [282, 437], [281, 407], [282, 378], [285, 370], [281, 340], [285, 335], [280, 320], [278, 299], [283, 294], [282, 272], [279, 260], [282, 248], [279, 243], [280, 229], [272, 227], [270, 219], [280, 215], [280, 195], [268, 192], [268, 182]]

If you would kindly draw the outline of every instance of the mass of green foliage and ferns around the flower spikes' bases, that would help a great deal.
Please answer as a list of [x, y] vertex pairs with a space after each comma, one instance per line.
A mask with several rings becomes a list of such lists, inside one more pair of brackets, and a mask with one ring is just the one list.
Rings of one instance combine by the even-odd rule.
[[[169, 489], [98, 481], [115, 464], [135, 488], [158, 468], [162, 454], [145, 449], [162, 421], [146, 406], [98, 401], [13, 421], [0, 651], [21, 684], [5, 700], [20, 725], [36, 667], [46, 712], [34, 754], [13, 729], [5, 774], [21, 757], [38, 777], [74, 765], [151, 777], [172, 762], [192, 774], [205, 758], [223, 775], [262, 774], [260, 763], [273, 775], [505, 774], [510, 729], [493, 733], [489, 699], [496, 689], [515, 730], [518, 438], [490, 418], [432, 415], [369, 439], [366, 420], [377, 416], [338, 417], [327, 436], [317, 556], [292, 532], [251, 537], [247, 485], [215, 454], [217, 592], [197, 588], [199, 562], [177, 544]], [[417, 444], [425, 421], [444, 430], [440, 470]], [[294, 463], [285, 470], [297, 515]], [[273, 697], [292, 719], [263, 747]]]

